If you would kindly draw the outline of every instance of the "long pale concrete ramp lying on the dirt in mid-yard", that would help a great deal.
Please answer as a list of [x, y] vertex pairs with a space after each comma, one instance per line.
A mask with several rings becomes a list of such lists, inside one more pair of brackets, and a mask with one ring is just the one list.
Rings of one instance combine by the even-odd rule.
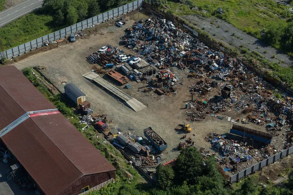
[[117, 87], [106, 81], [104, 78], [101, 78], [94, 72], [85, 73], [83, 77], [95, 81], [97, 84], [104, 87], [106, 90], [108, 90], [118, 98], [123, 99], [126, 102], [126, 104], [135, 112], [139, 112], [142, 109], [146, 108], [146, 106], [142, 104], [140, 101], [138, 101], [135, 98], [132, 98], [131, 96], [129, 96], [122, 90], [118, 89]]

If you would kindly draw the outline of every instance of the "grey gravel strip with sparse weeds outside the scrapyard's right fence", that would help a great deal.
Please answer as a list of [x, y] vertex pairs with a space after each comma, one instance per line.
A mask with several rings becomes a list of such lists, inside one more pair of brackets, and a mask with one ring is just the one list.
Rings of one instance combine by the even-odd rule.
[[[224, 20], [216, 18], [204, 18], [197, 15], [184, 16], [183, 18], [187, 19], [193, 24], [196, 24], [200, 29], [204, 28], [205, 31], [207, 31], [210, 35], [214, 35], [214, 39], [222, 41], [226, 43], [226, 45], [232, 44], [233, 47], [245, 45], [245, 47], [250, 49], [251, 52], [256, 51], [264, 56], [265, 59], [269, 59], [273, 62], [279, 62], [279, 60], [284, 61], [284, 63], [280, 64], [283, 67], [291, 66], [293, 63], [293, 58], [287, 54], [273, 48], [264, 41], [256, 39], [255, 37], [243, 32], [242, 30], [236, 28]], [[229, 32], [227, 32], [227, 30]], [[265, 51], [267, 51], [267, 53], [264, 53]], [[275, 59], [272, 58], [274, 54], [276, 55]]]

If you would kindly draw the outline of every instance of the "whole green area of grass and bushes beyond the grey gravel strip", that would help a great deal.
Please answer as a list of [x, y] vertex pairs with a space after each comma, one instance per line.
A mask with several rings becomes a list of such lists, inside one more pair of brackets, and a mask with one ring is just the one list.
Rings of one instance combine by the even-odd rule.
[[[179, 16], [198, 14], [226, 20], [293, 56], [292, 13], [287, 6], [274, 0], [186, 0], [184, 4], [179, 0], [157, 0], [157, 3]], [[266, 32], [265, 37], [261, 36], [261, 31]]]

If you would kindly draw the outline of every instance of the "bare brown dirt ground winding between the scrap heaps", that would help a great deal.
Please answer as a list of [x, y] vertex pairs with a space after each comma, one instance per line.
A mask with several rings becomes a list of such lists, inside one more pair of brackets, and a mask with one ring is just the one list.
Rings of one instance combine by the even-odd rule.
[[[187, 78], [188, 69], [174, 69], [176, 75], [180, 78], [180, 82], [182, 81], [183, 83], [183, 85], [179, 85], [180, 89], [177, 95], [158, 96], [154, 92], [143, 93], [143, 87], [146, 86], [145, 82], [130, 82], [131, 89], [122, 89], [120, 87], [123, 91], [147, 106], [146, 109], [138, 113], [122, 105], [115, 97], [112, 97], [103, 89], [82, 77], [84, 73], [92, 69], [86, 62], [85, 57], [106, 44], [117, 46], [127, 54], [135, 54], [123, 48], [123, 46], [119, 46], [120, 37], [123, 37], [125, 34], [124, 29], [126, 27], [130, 27], [135, 21], [146, 18], [148, 16], [134, 11], [127, 15], [126, 20], [128, 21], [123, 28], [114, 26], [113, 21], [102, 24], [97, 32], [91, 30], [84, 39], [70, 44], [61, 43], [56, 49], [38, 53], [27, 59], [20, 60], [14, 63], [14, 65], [19, 69], [27, 66], [48, 67], [47, 70], [42, 70], [42, 73], [62, 91], [64, 84], [74, 83], [86, 94], [87, 100], [96, 113], [107, 114], [108, 119], [113, 119], [112, 123], [109, 124], [112, 129], [118, 129], [123, 133], [130, 131], [132, 134], [142, 136], [143, 129], [151, 126], [167, 142], [168, 148], [166, 152], [168, 154], [166, 160], [171, 160], [178, 155], [179, 152], [176, 148], [180, 142], [180, 138], [185, 134], [185, 132], [175, 132], [174, 128], [179, 123], [187, 123], [186, 109], [184, 107], [185, 101], [191, 99], [188, 85], [196, 82], [195, 79]], [[138, 91], [138, 89], [140, 90]], [[234, 119], [243, 117], [242, 114], [233, 112], [233, 107], [230, 110], [231, 115], [227, 117]], [[232, 115], [232, 113], [234, 114]], [[207, 117], [201, 122], [191, 122], [190, 126], [192, 131], [188, 134], [188, 137], [191, 137], [195, 141], [197, 147], [208, 149], [210, 148], [210, 144], [204, 137], [210, 132], [216, 132], [218, 134], [228, 133], [231, 123], [226, 118], [220, 120]], [[253, 124], [247, 124], [246, 127], [255, 130], [265, 130], [263, 126]]]

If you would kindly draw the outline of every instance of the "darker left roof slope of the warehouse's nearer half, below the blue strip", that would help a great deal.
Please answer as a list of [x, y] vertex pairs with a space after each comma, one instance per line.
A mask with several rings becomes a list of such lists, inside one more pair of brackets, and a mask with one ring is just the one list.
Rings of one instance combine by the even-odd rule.
[[1, 139], [46, 195], [58, 195], [83, 176], [31, 118]]

